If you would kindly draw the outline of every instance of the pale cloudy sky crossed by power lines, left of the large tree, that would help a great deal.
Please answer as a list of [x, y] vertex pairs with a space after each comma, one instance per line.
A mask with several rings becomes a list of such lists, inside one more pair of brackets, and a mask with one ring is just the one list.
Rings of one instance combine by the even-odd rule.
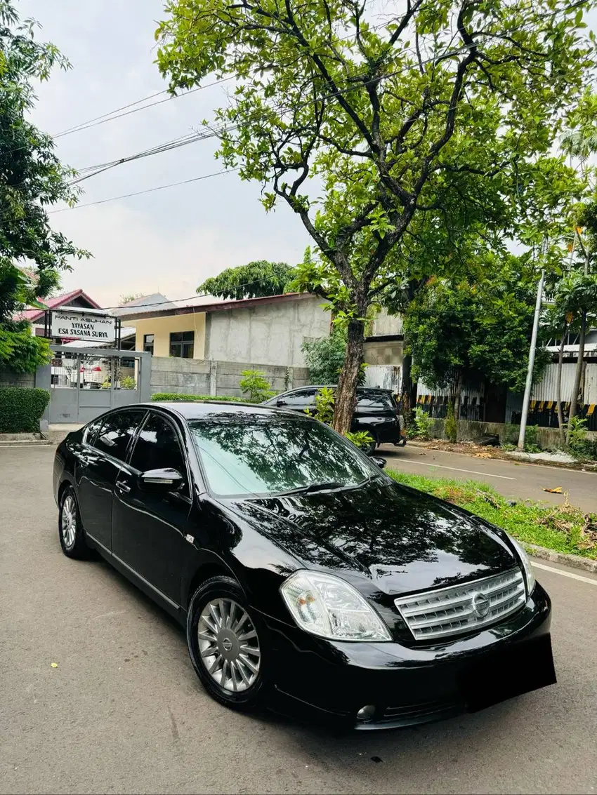
[[[52, 41], [72, 63], [37, 88], [33, 122], [50, 134], [162, 91], [154, 64], [161, 0], [16, 0], [21, 19], [41, 22], [39, 41]], [[156, 97], [163, 99], [166, 97]], [[57, 139], [60, 160], [76, 169], [171, 141], [213, 118], [224, 86], [150, 107]], [[154, 188], [221, 169], [212, 140], [120, 165], [86, 180], [80, 204]], [[256, 259], [296, 264], [309, 238], [287, 207], [266, 213], [259, 185], [236, 173], [194, 184], [50, 215], [93, 258], [75, 262], [64, 291], [82, 288], [104, 307], [127, 293], [192, 296], [207, 277]]]

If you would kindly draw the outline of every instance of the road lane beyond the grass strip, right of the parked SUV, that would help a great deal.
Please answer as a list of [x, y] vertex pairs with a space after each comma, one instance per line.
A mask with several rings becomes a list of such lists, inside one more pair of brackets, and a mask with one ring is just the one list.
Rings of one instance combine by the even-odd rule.
[[[572, 505], [597, 511], [597, 472], [563, 469], [539, 463], [519, 463], [501, 459], [477, 458], [457, 452], [428, 450], [407, 444], [396, 448], [383, 444], [378, 454], [388, 467], [426, 475], [429, 478], [482, 480], [500, 494], [515, 499], [544, 500], [561, 505], [568, 491]], [[549, 494], [544, 488], [562, 487], [562, 494]]]

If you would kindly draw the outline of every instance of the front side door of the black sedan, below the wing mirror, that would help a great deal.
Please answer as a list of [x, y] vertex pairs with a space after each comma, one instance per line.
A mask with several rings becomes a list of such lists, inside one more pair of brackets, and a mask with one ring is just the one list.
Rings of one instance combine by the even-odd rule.
[[[175, 421], [150, 411], [119, 474], [112, 511], [112, 551], [127, 568], [179, 604], [181, 576], [189, 553], [191, 482]], [[178, 491], [143, 487], [142, 472], [172, 468], [184, 479]]]

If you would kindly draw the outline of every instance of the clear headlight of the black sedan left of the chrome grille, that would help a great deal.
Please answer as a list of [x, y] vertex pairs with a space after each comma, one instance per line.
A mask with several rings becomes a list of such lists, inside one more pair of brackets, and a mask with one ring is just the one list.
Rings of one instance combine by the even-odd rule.
[[295, 572], [282, 584], [280, 592], [302, 630], [333, 640], [392, 640], [373, 607], [340, 577]]

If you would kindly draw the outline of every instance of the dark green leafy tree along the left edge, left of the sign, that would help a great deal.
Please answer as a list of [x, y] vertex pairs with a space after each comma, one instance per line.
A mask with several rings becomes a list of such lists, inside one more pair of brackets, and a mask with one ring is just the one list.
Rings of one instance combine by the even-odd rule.
[[69, 64], [54, 45], [34, 41], [34, 28], [0, 0], [0, 369], [22, 372], [45, 363], [49, 347], [14, 316], [27, 305], [43, 308], [38, 299], [57, 289], [60, 270], [87, 255], [49, 227], [48, 204], [76, 201], [68, 184], [74, 172], [26, 117], [36, 99], [33, 80]]

